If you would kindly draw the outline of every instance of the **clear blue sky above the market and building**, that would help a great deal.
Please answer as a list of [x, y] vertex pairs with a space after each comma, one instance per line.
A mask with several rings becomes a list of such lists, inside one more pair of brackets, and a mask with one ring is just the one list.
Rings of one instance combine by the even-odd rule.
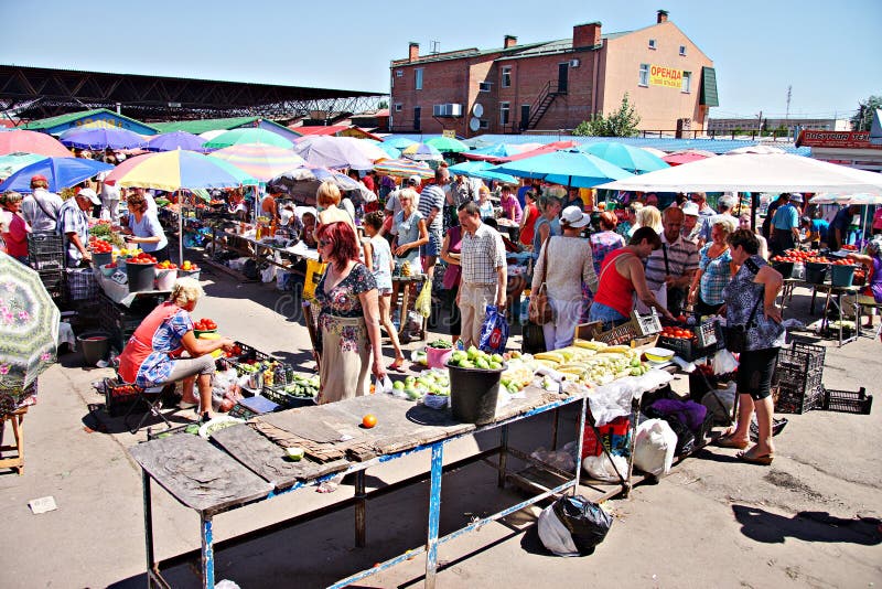
[[0, 63], [386, 93], [409, 41], [428, 53], [596, 20], [628, 31], [659, 8], [714, 61], [711, 117], [783, 116], [787, 86], [790, 116], [841, 118], [882, 94], [880, 0], [0, 0]]

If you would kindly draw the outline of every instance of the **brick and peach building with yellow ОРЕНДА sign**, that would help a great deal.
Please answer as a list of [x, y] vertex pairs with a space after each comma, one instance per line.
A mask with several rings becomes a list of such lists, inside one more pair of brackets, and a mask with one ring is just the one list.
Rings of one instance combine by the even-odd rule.
[[609, 114], [625, 93], [641, 129], [704, 128], [718, 106], [713, 62], [659, 10], [656, 23], [603, 33], [601, 23], [573, 26], [572, 39], [420, 55], [390, 65], [390, 130], [471, 137], [573, 129], [593, 113]]

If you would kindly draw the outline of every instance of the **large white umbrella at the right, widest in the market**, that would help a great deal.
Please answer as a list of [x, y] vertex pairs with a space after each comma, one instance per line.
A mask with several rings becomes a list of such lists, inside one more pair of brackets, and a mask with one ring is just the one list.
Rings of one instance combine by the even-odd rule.
[[882, 174], [789, 153], [739, 153], [708, 158], [595, 188], [642, 192], [882, 194]]

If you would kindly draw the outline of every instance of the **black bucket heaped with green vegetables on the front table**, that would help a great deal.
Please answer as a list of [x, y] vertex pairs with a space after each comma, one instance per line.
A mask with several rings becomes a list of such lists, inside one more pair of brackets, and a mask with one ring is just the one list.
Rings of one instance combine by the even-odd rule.
[[453, 418], [464, 424], [483, 426], [496, 418], [499, 378], [507, 366], [495, 371], [460, 368], [448, 364], [450, 372], [450, 408]]

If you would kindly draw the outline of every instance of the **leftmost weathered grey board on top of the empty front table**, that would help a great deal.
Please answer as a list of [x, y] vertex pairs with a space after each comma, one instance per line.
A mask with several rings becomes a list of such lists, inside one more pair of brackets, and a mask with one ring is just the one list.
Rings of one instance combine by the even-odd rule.
[[198, 512], [239, 505], [272, 491], [271, 484], [198, 436], [160, 438], [129, 453], [174, 499]]

